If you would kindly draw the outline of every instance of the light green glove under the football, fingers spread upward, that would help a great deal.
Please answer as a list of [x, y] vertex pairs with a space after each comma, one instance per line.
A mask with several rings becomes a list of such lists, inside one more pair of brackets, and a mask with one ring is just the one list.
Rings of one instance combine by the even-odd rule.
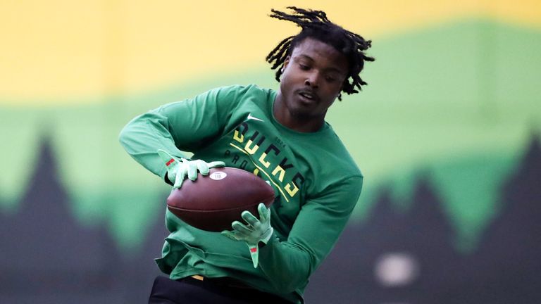
[[270, 236], [273, 235], [273, 227], [270, 227], [270, 209], [265, 204], [260, 203], [257, 206], [259, 220], [249, 211], [243, 211], [241, 217], [247, 222], [247, 225], [239, 221], [232, 222], [232, 231], [223, 231], [222, 234], [234, 241], [245, 241], [250, 249], [251, 262], [254, 268], [259, 264], [258, 243], [268, 243]]

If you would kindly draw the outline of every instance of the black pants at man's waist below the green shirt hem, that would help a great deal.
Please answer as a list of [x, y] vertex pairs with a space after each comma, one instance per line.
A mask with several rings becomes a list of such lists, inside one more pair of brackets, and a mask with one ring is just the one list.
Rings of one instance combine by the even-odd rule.
[[187, 277], [174, 281], [158, 276], [150, 293], [149, 304], [249, 304], [249, 303], [289, 303], [270, 293], [256, 289], [238, 288], [217, 284], [205, 279], [199, 281]]

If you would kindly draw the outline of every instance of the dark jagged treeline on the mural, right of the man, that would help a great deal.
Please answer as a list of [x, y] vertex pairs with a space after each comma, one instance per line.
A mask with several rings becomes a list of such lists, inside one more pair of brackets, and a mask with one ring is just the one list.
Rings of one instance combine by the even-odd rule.
[[[309, 284], [309, 303], [540, 303], [541, 145], [533, 136], [499, 189], [500, 213], [471, 253], [454, 230], [430, 177], [413, 203], [383, 189], [368, 220], [350, 225]], [[332, 282], [332, 284], [330, 284]]]

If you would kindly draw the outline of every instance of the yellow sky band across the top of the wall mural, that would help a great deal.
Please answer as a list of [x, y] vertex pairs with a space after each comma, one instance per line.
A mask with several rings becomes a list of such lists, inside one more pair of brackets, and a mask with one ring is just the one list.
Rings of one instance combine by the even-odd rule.
[[[264, 65], [264, 54], [296, 34], [268, 18], [292, 1], [0, 2], [0, 104], [104, 101], [209, 73]], [[540, 27], [541, 2], [294, 1], [372, 39], [460, 18]], [[242, 13], [241, 13], [242, 12]], [[83, 98], [84, 97], [84, 98]]]

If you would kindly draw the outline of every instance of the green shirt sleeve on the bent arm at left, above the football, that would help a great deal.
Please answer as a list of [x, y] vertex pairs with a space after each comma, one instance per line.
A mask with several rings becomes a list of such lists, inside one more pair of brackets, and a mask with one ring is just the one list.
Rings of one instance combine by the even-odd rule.
[[182, 151], [191, 152], [209, 143], [223, 132], [237, 91], [238, 87], [213, 89], [150, 110], [128, 122], [120, 132], [120, 144], [137, 163], [163, 178], [167, 169], [158, 149], [181, 158], [185, 157]]

